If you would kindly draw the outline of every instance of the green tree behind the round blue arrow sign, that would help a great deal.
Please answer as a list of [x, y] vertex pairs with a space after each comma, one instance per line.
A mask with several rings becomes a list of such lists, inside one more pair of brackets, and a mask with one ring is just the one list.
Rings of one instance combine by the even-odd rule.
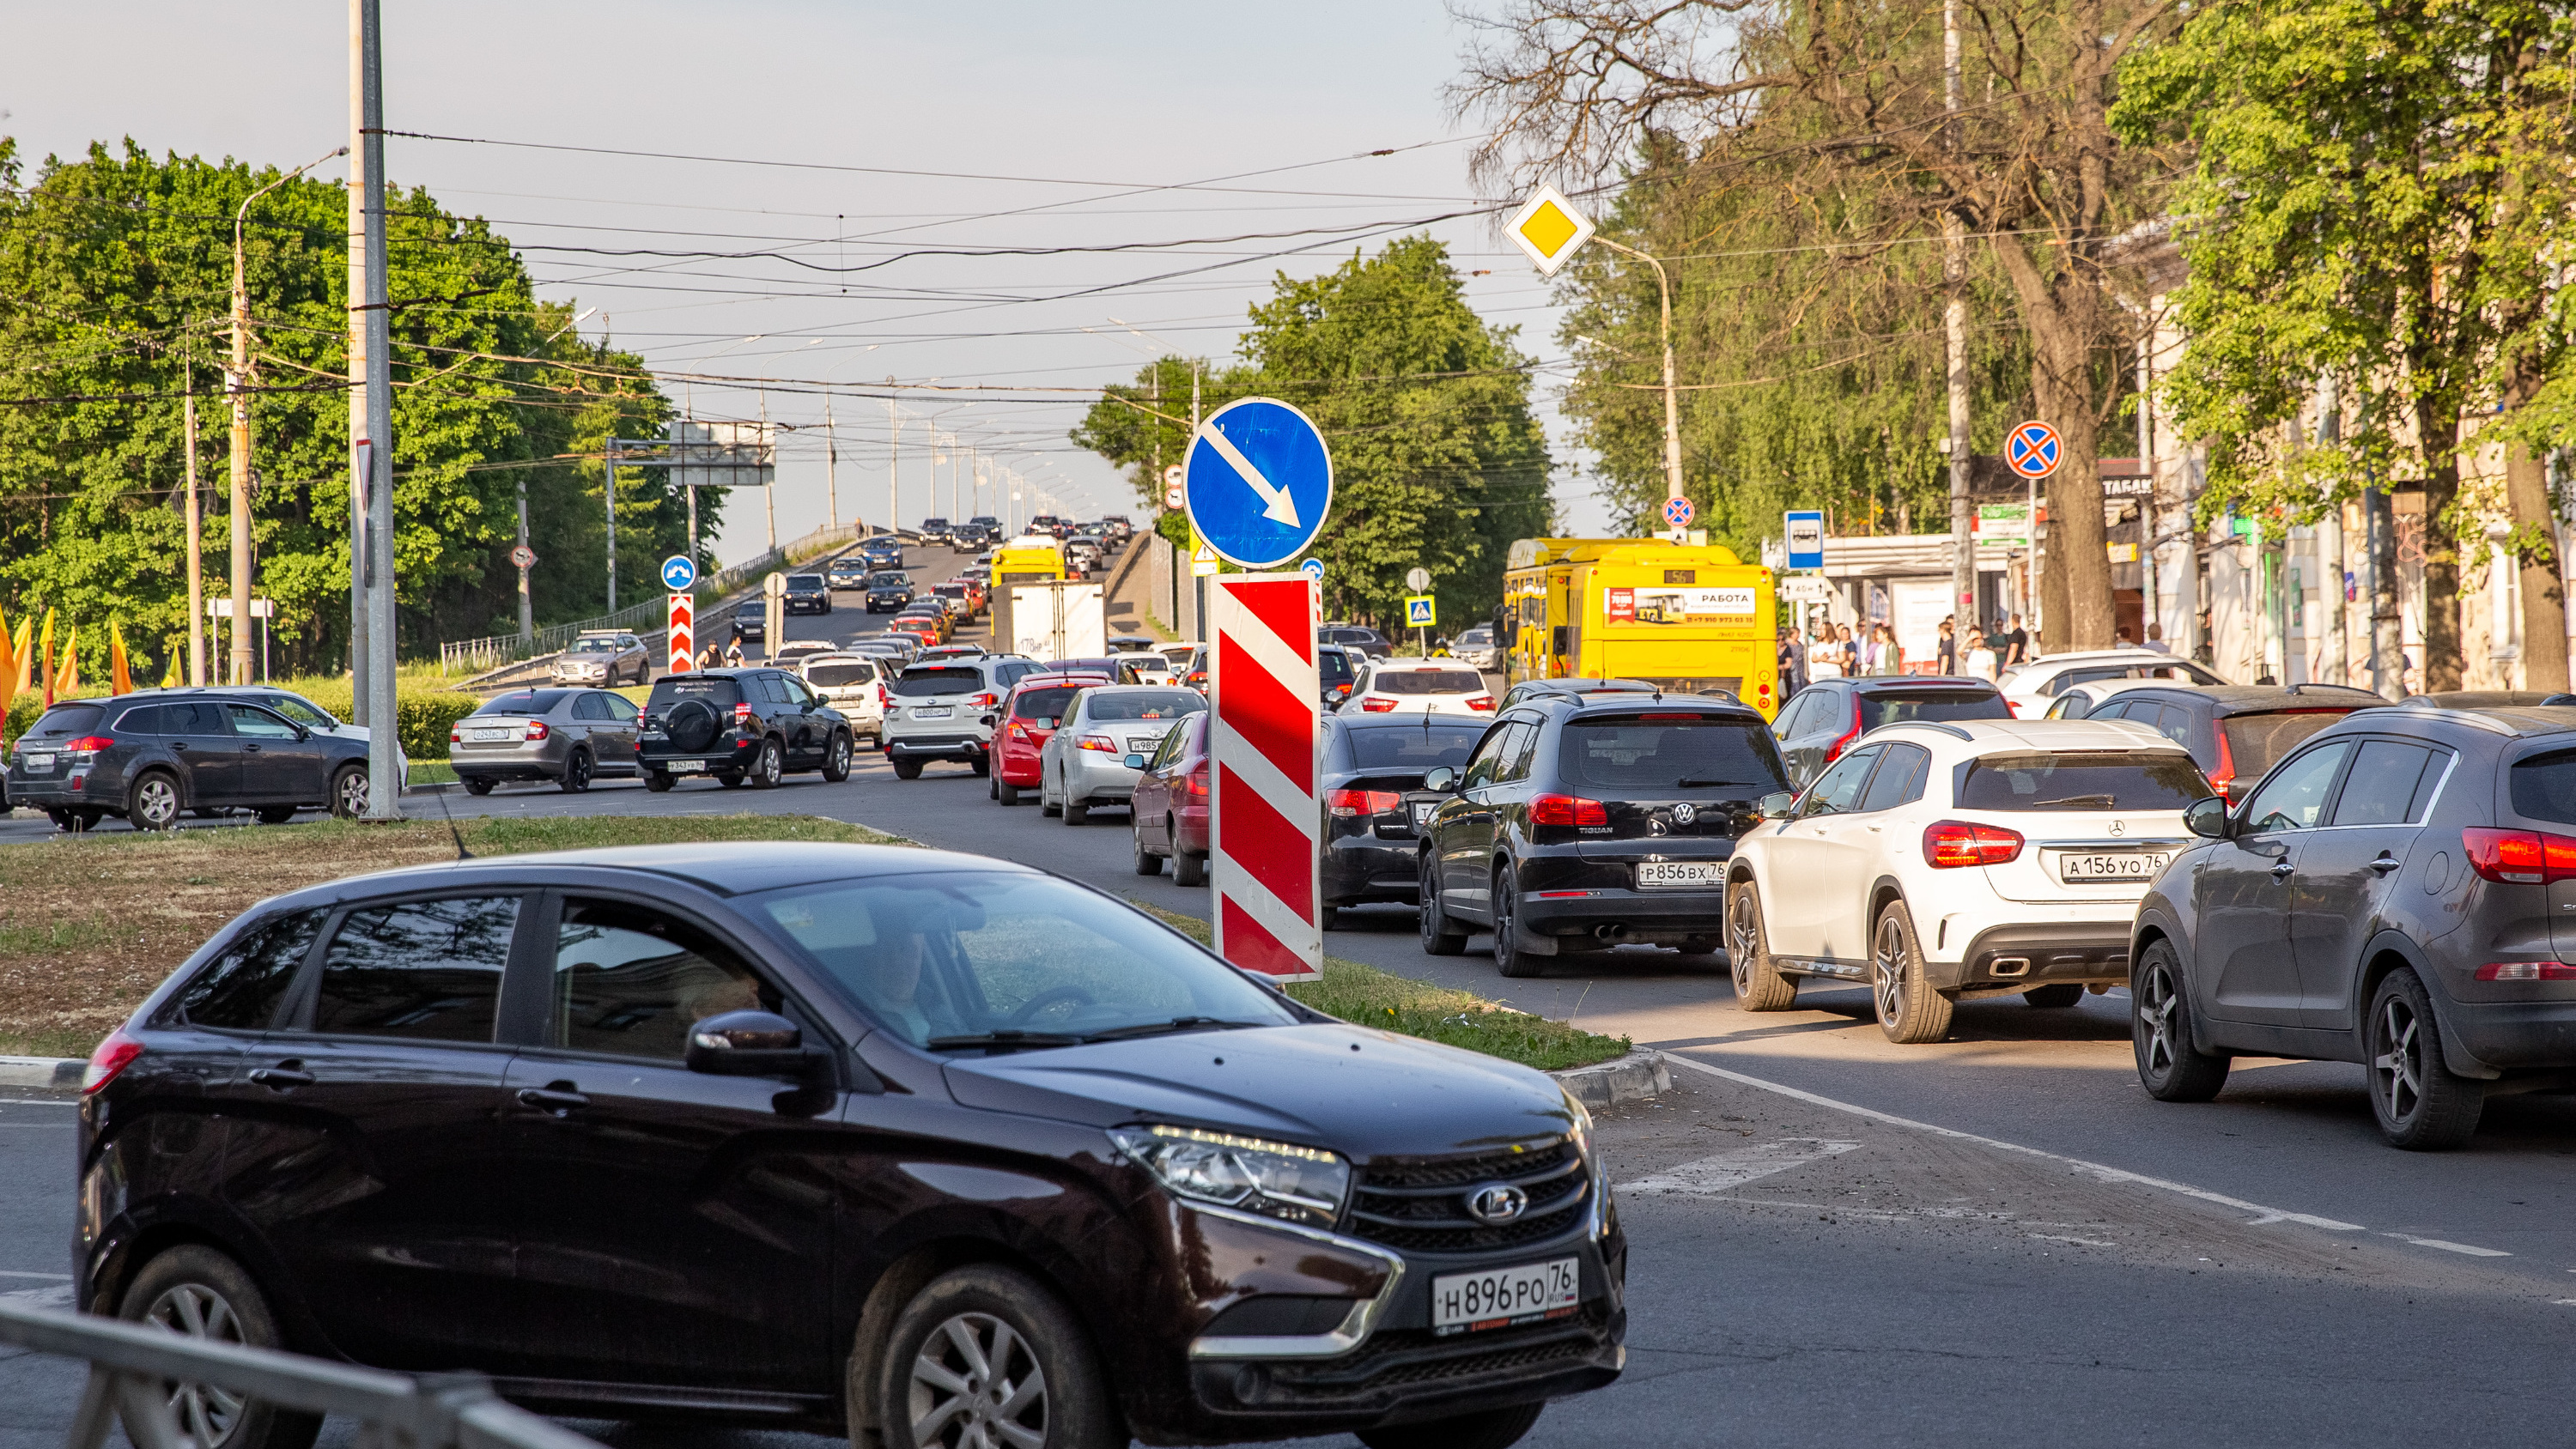
[[[1334, 494], [1316, 556], [1334, 615], [1401, 625], [1414, 566], [1448, 628], [1494, 610], [1512, 540], [1548, 522], [1546, 435], [1512, 332], [1466, 304], [1448, 247], [1404, 237], [1319, 278], [1280, 275], [1252, 306], [1247, 363], [1203, 376], [1203, 412], [1260, 394], [1324, 430]], [[1157, 507], [1154, 445], [1182, 458], [1190, 363], [1162, 358], [1108, 394], [1074, 443], [1126, 466]]]

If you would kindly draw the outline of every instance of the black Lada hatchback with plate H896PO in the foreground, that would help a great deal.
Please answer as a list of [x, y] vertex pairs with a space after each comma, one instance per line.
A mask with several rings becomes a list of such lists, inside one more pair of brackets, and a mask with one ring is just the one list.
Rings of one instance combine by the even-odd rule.
[[[1625, 1356], [1556, 1081], [974, 854], [629, 847], [265, 901], [100, 1042], [77, 1174], [98, 1313], [582, 1418], [1499, 1449]], [[222, 1449], [312, 1436], [252, 1403]]]

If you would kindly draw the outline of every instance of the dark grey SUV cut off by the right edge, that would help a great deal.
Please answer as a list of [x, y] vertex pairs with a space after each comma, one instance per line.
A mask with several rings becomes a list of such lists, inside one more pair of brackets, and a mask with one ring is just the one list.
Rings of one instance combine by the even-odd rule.
[[2452, 1148], [2576, 1076], [2576, 708], [2354, 710], [2184, 824], [2130, 952], [2156, 1099], [2349, 1060], [2393, 1145]]

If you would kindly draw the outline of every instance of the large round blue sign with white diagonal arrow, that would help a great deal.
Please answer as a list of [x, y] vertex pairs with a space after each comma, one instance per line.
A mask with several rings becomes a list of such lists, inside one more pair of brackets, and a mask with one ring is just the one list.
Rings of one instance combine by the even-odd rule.
[[1285, 564], [1314, 543], [1332, 510], [1324, 432], [1270, 396], [1229, 401], [1190, 440], [1180, 502], [1221, 558], [1244, 569]]

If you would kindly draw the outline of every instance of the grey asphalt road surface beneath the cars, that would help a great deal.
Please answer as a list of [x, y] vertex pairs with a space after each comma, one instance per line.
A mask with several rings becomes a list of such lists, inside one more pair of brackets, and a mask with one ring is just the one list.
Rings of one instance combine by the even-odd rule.
[[[855, 633], [866, 615], [832, 623]], [[801, 811], [1208, 914], [1206, 891], [1133, 875], [1118, 811], [1064, 826], [994, 806], [963, 767], [899, 782], [873, 754], [845, 785], [502, 788], [448, 806]], [[1674, 1071], [1674, 1096], [1605, 1117], [1628, 1184], [1631, 1372], [1556, 1405], [1530, 1444], [2563, 1439], [2548, 1385], [2576, 1313], [2568, 1096], [2494, 1102], [2460, 1153], [2396, 1153], [2360, 1068], [2241, 1060], [2213, 1104], [2146, 1099], [2120, 993], [1968, 1004], [1950, 1042], [1893, 1048], [1862, 991], [1736, 1011], [1721, 957], [1620, 950], [1502, 981], [1481, 939], [1422, 955], [1406, 909], [1345, 919], [1334, 955], [1698, 1063]], [[64, 1271], [64, 1117], [0, 1104], [0, 1274], [28, 1274], [0, 1277], [0, 1295], [54, 1292], [44, 1274]], [[57, 1444], [75, 1387], [59, 1364], [0, 1361], [0, 1449]], [[577, 1428], [634, 1449], [824, 1444]]]

